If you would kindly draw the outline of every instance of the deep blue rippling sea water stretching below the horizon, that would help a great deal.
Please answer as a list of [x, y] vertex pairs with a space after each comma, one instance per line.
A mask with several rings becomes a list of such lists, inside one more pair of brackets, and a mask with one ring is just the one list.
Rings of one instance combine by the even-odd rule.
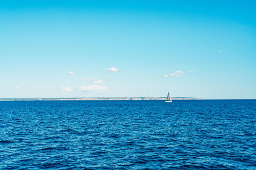
[[256, 100], [1, 101], [0, 169], [256, 169]]

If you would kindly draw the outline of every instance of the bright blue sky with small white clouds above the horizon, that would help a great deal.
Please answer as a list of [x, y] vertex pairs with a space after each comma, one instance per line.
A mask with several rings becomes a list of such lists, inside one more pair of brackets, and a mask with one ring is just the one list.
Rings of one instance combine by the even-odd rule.
[[0, 2], [0, 98], [256, 99], [256, 2]]

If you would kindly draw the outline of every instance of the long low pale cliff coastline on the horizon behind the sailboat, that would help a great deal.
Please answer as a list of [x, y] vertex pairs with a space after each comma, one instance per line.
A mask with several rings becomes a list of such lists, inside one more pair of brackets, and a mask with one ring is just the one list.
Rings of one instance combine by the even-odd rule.
[[[166, 97], [74, 97], [74, 98], [0, 98], [0, 101], [77, 101], [77, 100], [165, 100]], [[172, 97], [172, 100], [204, 100], [195, 97]]]

